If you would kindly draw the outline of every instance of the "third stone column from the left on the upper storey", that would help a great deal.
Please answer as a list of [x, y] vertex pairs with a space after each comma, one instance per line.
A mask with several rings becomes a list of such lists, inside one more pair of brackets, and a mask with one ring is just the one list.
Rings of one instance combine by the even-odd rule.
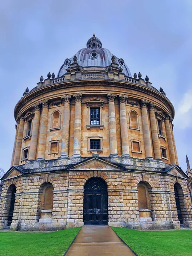
[[35, 116], [33, 119], [33, 126], [32, 126], [32, 136], [31, 136], [31, 143], [29, 148], [29, 161], [36, 160], [36, 153], [37, 153], [37, 145], [38, 145], [38, 135], [39, 135], [39, 122], [40, 122], [40, 103], [35, 103], [33, 105], [35, 108]]

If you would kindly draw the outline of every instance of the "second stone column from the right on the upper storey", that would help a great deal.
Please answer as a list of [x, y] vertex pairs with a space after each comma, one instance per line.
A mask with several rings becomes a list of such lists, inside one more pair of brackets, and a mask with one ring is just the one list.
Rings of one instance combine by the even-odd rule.
[[169, 113], [166, 113], [165, 127], [166, 127], [167, 142], [169, 147], [169, 157], [170, 157], [171, 164], [176, 164], [175, 151], [174, 151], [174, 145], [172, 140], [172, 132], [169, 124], [170, 118], [171, 118], [171, 115]]

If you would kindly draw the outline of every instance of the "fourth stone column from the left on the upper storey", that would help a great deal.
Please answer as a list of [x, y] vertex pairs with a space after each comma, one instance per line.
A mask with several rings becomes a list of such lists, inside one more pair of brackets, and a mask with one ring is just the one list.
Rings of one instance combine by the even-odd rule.
[[42, 116], [41, 116], [37, 159], [44, 160], [45, 159], [45, 150], [46, 150], [49, 103], [48, 103], [48, 100], [44, 100], [40, 103], [42, 104]]

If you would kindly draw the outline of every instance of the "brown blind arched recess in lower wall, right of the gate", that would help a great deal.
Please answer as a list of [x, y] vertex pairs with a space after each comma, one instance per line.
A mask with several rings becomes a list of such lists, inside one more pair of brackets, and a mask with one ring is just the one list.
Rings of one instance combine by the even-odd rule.
[[142, 183], [138, 185], [138, 204], [139, 209], [150, 209], [148, 189]]

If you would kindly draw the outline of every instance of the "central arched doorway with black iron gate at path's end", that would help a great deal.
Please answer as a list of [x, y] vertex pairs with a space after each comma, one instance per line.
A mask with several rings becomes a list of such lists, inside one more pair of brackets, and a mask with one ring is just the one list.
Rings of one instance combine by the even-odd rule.
[[90, 178], [84, 185], [83, 221], [85, 225], [108, 224], [107, 184], [99, 177]]

